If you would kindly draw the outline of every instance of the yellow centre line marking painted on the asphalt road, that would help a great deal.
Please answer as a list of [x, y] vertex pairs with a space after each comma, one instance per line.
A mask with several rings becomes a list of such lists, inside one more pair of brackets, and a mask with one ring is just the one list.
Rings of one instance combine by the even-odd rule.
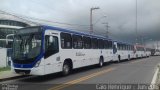
[[107, 69], [107, 70], [103, 70], [103, 71], [100, 71], [100, 72], [92, 73], [92, 74], [90, 74], [90, 75], [81, 77], [81, 78], [79, 78], [79, 79], [75, 79], [75, 80], [66, 82], [66, 83], [64, 83], [64, 84], [62, 84], [62, 85], [55, 86], [55, 87], [53, 87], [53, 88], [50, 88], [49, 90], [60, 90], [60, 89], [64, 89], [64, 88], [66, 88], [66, 87], [72, 86], [72, 85], [74, 85], [74, 84], [77, 84], [77, 83], [79, 83], [79, 82], [88, 80], [88, 79], [93, 78], [93, 77], [96, 77], [96, 76], [98, 76], [98, 75], [101, 75], [101, 74], [104, 74], [104, 73], [113, 71], [114, 69], [115, 69], [115, 68], [109, 68], [109, 69]]

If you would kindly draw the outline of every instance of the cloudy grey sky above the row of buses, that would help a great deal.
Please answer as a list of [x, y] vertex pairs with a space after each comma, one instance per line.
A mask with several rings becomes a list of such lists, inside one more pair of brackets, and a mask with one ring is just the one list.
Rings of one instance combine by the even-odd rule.
[[73, 24], [43, 22], [81, 32], [90, 30], [90, 8], [99, 7], [100, 9], [93, 11], [94, 34], [106, 36], [107, 29], [103, 23], [108, 23], [109, 37], [112, 39], [135, 43], [137, 36], [138, 43], [143, 42], [150, 46], [153, 46], [152, 42], [156, 45], [160, 41], [160, 0], [137, 0], [137, 4], [136, 0], [1, 0], [0, 2], [0, 10], [52, 22]]

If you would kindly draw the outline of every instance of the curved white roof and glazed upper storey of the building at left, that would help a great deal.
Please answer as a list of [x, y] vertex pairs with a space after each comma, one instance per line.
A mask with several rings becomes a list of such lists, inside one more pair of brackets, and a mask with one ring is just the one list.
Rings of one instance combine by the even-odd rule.
[[6, 47], [6, 35], [13, 34], [17, 29], [32, 26], [33, 24], [18, 17], [0, 14], [0, 47]]

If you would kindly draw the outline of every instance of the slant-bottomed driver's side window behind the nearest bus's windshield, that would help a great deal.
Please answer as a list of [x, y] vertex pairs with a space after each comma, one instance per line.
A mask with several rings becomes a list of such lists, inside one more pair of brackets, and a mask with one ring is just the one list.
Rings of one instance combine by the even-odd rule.
[[59, 52], [58, 38], [55, 36], [45, 36], [45, 58]]

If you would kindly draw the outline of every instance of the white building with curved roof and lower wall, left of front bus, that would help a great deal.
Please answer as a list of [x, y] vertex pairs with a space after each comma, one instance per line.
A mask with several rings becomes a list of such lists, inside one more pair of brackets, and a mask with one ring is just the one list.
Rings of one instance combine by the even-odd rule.
[[14, 34], [20, 28], [29, 26], [34, 26], [34, 24], [13, 15], [0, 13], [0, 67], [6, 67], [10, 59], [7, 55], [6, 36]]

